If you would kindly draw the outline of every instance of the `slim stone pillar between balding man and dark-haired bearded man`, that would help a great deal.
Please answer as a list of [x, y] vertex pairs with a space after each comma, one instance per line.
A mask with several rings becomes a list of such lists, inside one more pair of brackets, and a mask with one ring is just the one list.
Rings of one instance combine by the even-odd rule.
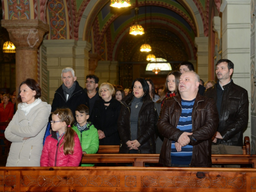
[[204, 82], [208, 80], [208, 37], [196, 37], [197, 74]]

